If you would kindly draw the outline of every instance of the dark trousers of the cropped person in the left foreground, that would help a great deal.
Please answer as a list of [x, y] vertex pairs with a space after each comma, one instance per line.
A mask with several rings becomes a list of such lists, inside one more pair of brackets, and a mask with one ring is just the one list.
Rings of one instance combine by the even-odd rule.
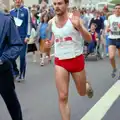
[[0, 94], [8, 108], [12, 120], [23, 120], [9, 63], [0, 65]]

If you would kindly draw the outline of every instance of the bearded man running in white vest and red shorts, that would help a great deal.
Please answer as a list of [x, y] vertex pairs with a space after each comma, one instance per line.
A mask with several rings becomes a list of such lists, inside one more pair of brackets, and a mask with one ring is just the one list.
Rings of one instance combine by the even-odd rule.
[[[70, 120], [68, 92], [70, 73], [81, 96], [93, 96], [90, 84], [86, 80], [83, 57], [83, 39], [91, 41], [91, 36], [83, 27], [78, 16], [68, 13], [69, 0], [53, 0], [56, 16], [49, 22], [53, 36], [46, 47], [55, 43], [56, 87], [59, 95], [59, 107], [62, 120]], [[82, 36], [82, 37], [81, 37]]]

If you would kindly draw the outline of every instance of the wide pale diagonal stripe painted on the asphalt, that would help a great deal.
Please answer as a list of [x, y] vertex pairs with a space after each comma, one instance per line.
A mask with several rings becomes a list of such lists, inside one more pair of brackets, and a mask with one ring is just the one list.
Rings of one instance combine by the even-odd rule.
[[120, 80], [80, 120], [102, 120], [118, 97], [120, 97]]

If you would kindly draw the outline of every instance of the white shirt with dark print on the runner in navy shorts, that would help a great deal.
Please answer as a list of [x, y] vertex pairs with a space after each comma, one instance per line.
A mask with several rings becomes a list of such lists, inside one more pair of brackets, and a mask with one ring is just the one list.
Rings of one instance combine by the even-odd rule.
[[120, 17], [117, 17], [115, 14], [111, 15], [108, 18], [111, 32], [109, 33], [110, 39], [118, 39], [120, 38], [120, 28], [118, 27], [118, 24], [120, 24]]

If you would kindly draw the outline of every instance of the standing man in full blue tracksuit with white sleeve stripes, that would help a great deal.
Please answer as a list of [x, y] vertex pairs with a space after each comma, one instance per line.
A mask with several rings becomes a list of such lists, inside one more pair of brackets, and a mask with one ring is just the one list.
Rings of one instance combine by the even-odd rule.
[[12, 61], [13, 64], [13, 73], [15, 76], [18, 76], [18, 81], [22, 81], [25, 79], [26, 72], [26, 52], [27, 52], [27, 42], [30, 37], [31, 32], [31, 19], [30, 12], [27, 7], [23, 5], [22, 0], [15, 0], [15, 8], [10, 11], [11, 16], [14, 17], [15, 22], [20, 21], [20, 23], [16, 22], [16, 26], [18, 28], [20, 37], [24, 44], [23, 49], [20, 53], [20, 73], [17, 69], [17, 65], [15, 60]]

